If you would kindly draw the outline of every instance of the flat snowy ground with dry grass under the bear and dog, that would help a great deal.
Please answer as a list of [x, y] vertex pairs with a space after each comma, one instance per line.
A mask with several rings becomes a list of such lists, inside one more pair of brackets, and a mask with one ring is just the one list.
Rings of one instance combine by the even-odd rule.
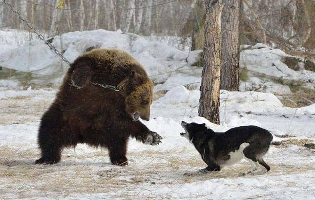
[[[292, 109], [273, 95], [227, 92], [221, 95], [221, 126], [197, 117], [199, 91], [171, 89], [152, 105], [144, 122], [163, 136], [158, 146], [131, 140], [129, 166], [110, 164], [106, 149], [78, 145], [65, 149], [53, 166], [34, 165], [39, 155], [36, 137], [40, 116], [56, 90], [0, 91], [0, 197], [66, 199], [305, 199], [315, 196], [315, 151], [302, 146], [315, 139], [315, 105]], [[266, 156], [271, 171], [261, 176], [238, 176], [243, 163], [206, 175], [184, 176], [205, 167], [184, 138], [180, 121], [205, 122], [216, 131], [258, 125], [274, 134]], [[287, 134], [290, 138], [276, 135]], [[294, 137], [296, 136], [296, 137]]]

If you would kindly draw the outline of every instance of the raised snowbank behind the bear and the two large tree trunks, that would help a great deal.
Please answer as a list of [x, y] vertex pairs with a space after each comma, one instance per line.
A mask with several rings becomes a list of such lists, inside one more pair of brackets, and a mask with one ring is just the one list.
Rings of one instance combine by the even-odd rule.
[[[0, 32], [0, 66], [31, 73], [32, 79], [29, 81], [33, 84], [58, 86], [68, 66], [42, 41], [33, 39], [25, 42], [28, 34], [23, 36], [21, 32]], [[200, 51], [181, 51], [156, 39], [121, 31], [94, 30], [56, 36], [53, 44], [70, 62], [93, 48], [123, 49], [144, 66], [157, 84], [163, 84], [158, 85], [156, 91], [181, 85], [199, 87], [201, 68], [196, 63]], [[9, 47], [9, 44], [12, 45]], [[263, 44], [244, 46], [240, 55], [241, 91], [255, 90], [284, 95], [292, 93], [291, 86], [315, 89], [315, 68], [313, 71], [306, 70], [300, 59], [297, 69], [293, 70], [284, 63], [285, 57], [292, 56]], [[18, 85], [14, 75], [6, 79], [15, 84], [0, 80], [0, 86]]]

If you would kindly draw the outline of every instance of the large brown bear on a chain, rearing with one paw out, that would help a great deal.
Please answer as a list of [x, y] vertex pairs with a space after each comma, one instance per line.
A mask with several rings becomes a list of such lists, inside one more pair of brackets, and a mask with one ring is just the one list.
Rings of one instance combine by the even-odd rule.
[[[117, 86], [116, 91], [102, 84]], [[138, 121], [149, 120], [152, 98], [152, 81], [128, 53], [95, 49], [83, 54], [71, 64], [41, 118], [41, 158], [35, 163], [57, 163], [63, 148], [86, 143], [107, 148], [113, 164], [127, 165], [129, 136], [145, 144], [161, 142], [161, 136]]]

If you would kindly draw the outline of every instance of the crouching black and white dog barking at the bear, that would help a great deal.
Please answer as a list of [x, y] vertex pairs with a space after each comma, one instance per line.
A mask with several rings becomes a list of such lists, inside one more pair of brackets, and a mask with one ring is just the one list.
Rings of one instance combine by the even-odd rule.
[[208, 165], [198, 172], [220, 171], [222, 167], [232, 165], [242, 158], [251, 162], [252, 166], [240, 175], [261, 175], [270, 170], [263, 160], [272, 141], [269, 131], [257, 126], [241, 126], [219, 133], [207, 128], [206, 124], [182, 121], [181, 125], [185, 130], [181, 136], [195, 146]]

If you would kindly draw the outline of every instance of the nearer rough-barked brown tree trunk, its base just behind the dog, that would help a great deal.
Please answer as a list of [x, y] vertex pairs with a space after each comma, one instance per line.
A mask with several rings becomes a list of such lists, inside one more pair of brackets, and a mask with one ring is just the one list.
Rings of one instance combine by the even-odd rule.
[[199, 116], [220, 123], [221, 14], [222, 0], [206, 0], [203, 70]]

